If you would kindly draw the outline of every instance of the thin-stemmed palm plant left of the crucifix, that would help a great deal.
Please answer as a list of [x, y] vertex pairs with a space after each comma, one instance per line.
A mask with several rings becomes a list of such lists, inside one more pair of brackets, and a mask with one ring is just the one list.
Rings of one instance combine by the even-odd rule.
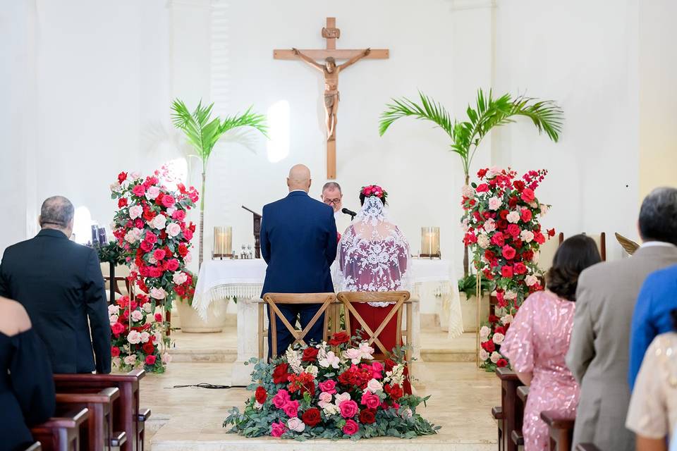
[[251, 127], [259, 130], [267, 137], [266, 118], [262, 114], [252, 112], [251, 107], [243, 114], [226, 116], [226, 118], [211, 118], [214, 104], [202, 106], [197, 104], [193, 112], [188, 110], [183, 101], [175, 99], [171, 104], [171, 118], [174, 126], [183, 130], [185, 137], [196, 156], [202, 160], [202, 189], [200, 190], [200, 254], [198, 265], [202, 266], [202, 245], [205, 232], [205, 183], [207, 181], [207, 162], [212, 155], [214, 145], [224, 133], [241, 127]]

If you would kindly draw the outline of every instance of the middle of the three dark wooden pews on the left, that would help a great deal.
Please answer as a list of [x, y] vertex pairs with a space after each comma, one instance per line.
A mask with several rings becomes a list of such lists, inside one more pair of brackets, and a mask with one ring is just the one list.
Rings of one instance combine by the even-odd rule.
[[98, 393], [56, 393], [58, 409], [86, 407], [90, 418], [83, 425], [83, 442], [88, 451], [105, 451], [120, 447], [126, 441], [126, 433], [114, 432], [113, 403], [120, 397], [118, 388], [104, 388]]

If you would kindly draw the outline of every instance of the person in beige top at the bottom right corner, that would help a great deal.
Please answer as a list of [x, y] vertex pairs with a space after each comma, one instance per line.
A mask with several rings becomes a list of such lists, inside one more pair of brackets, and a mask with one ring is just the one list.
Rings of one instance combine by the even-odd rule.
[[[677, 310], [671, 315], [677, 330]], [[665, 451], [677, 424], [677, 333], [658, 335], [642, 362], [626, 427], [637, 435], [638, 451]]]

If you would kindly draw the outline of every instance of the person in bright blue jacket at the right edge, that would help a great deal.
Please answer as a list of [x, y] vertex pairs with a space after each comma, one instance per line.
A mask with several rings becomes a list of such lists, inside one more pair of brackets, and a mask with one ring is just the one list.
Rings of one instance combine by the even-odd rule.
[[[677, 217], [672, 223], [676, 228], [673, 242], [677, 244]], [[672, 330], [670, 311], [673, 309], [677, 309], [677, 265], [649, 274], [637, 297], [630, 334], [630, 390], [633, 390], [649, 344], [657, 335]]]

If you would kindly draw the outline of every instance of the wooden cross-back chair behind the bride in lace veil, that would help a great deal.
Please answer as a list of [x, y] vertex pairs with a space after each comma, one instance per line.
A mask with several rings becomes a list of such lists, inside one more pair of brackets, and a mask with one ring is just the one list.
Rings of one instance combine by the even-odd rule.
[[[346, 312], [346, 331], [350, 334], [350, 314], [355, 317], [355, 320], [358, 321], [358, 328], [362, 329], [362, 332], [367, 335], [367, 342], [369, 345], [375, 344], [379, 348], [380, 353], [384, 355], [390, 354], [390, 350], [386, 349], [381, 340], [379, 340], [379, 335], [382, 333], [384, 328], [388, 325], [393, 316], [397, 315], [397, 328], [396, 328], [396, 338], [395, 342], [397, 345], [400, 344], [402, 340], [402, 310], [405, 302], [410, 298], [410, 293], [408, 291], [384, 291], [384, 292], [367, 292], [367, 291], [358, 291], [358, 292], [348, 292], [343, 291], [336, 295], [336, 298], [343, 304], [343, 307]], [[391, 309], [388, 315], [384, 318], [381, 324], [372, 330], [362, 316], [355, 310], [352, 304], [361, 304], [366, 302], [395, 302], [395, 307]], [[407, 333], [408, 333], [408, 342], [407, 345], [411, 345], [410, 340], [410, 326], [407, 321]]]

